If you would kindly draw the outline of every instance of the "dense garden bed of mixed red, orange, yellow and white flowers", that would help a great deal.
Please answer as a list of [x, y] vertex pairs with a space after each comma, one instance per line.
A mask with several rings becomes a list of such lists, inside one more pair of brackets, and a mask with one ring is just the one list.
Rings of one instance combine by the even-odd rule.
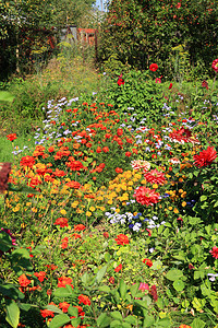
[[189, 101], [153, 63], [48, 102], [0, 166], [1, 327], [218, 327], [214, 85]]

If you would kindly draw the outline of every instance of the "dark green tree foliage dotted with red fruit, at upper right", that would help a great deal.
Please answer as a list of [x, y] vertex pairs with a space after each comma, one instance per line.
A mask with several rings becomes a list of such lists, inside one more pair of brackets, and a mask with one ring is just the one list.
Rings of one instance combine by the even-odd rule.
[[182, 46], [190, 66], [210, 67], [218, 50], [217, 21], [218, 9], [210, 0], [112, 0], [99, 58], [116, 55], [138, 69], [156, 61], [170, 73], [175, 47]]

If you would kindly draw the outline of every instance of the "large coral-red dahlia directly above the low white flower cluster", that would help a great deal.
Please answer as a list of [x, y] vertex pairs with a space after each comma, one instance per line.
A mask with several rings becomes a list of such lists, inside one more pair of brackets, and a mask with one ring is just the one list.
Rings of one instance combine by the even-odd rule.
[[133, 197], [136, 198], [136, 201], [142, 204], [153, 206], [159, 200], [159, 194], [154, 189], [146, 188], [144, 186], [137, 188]]

